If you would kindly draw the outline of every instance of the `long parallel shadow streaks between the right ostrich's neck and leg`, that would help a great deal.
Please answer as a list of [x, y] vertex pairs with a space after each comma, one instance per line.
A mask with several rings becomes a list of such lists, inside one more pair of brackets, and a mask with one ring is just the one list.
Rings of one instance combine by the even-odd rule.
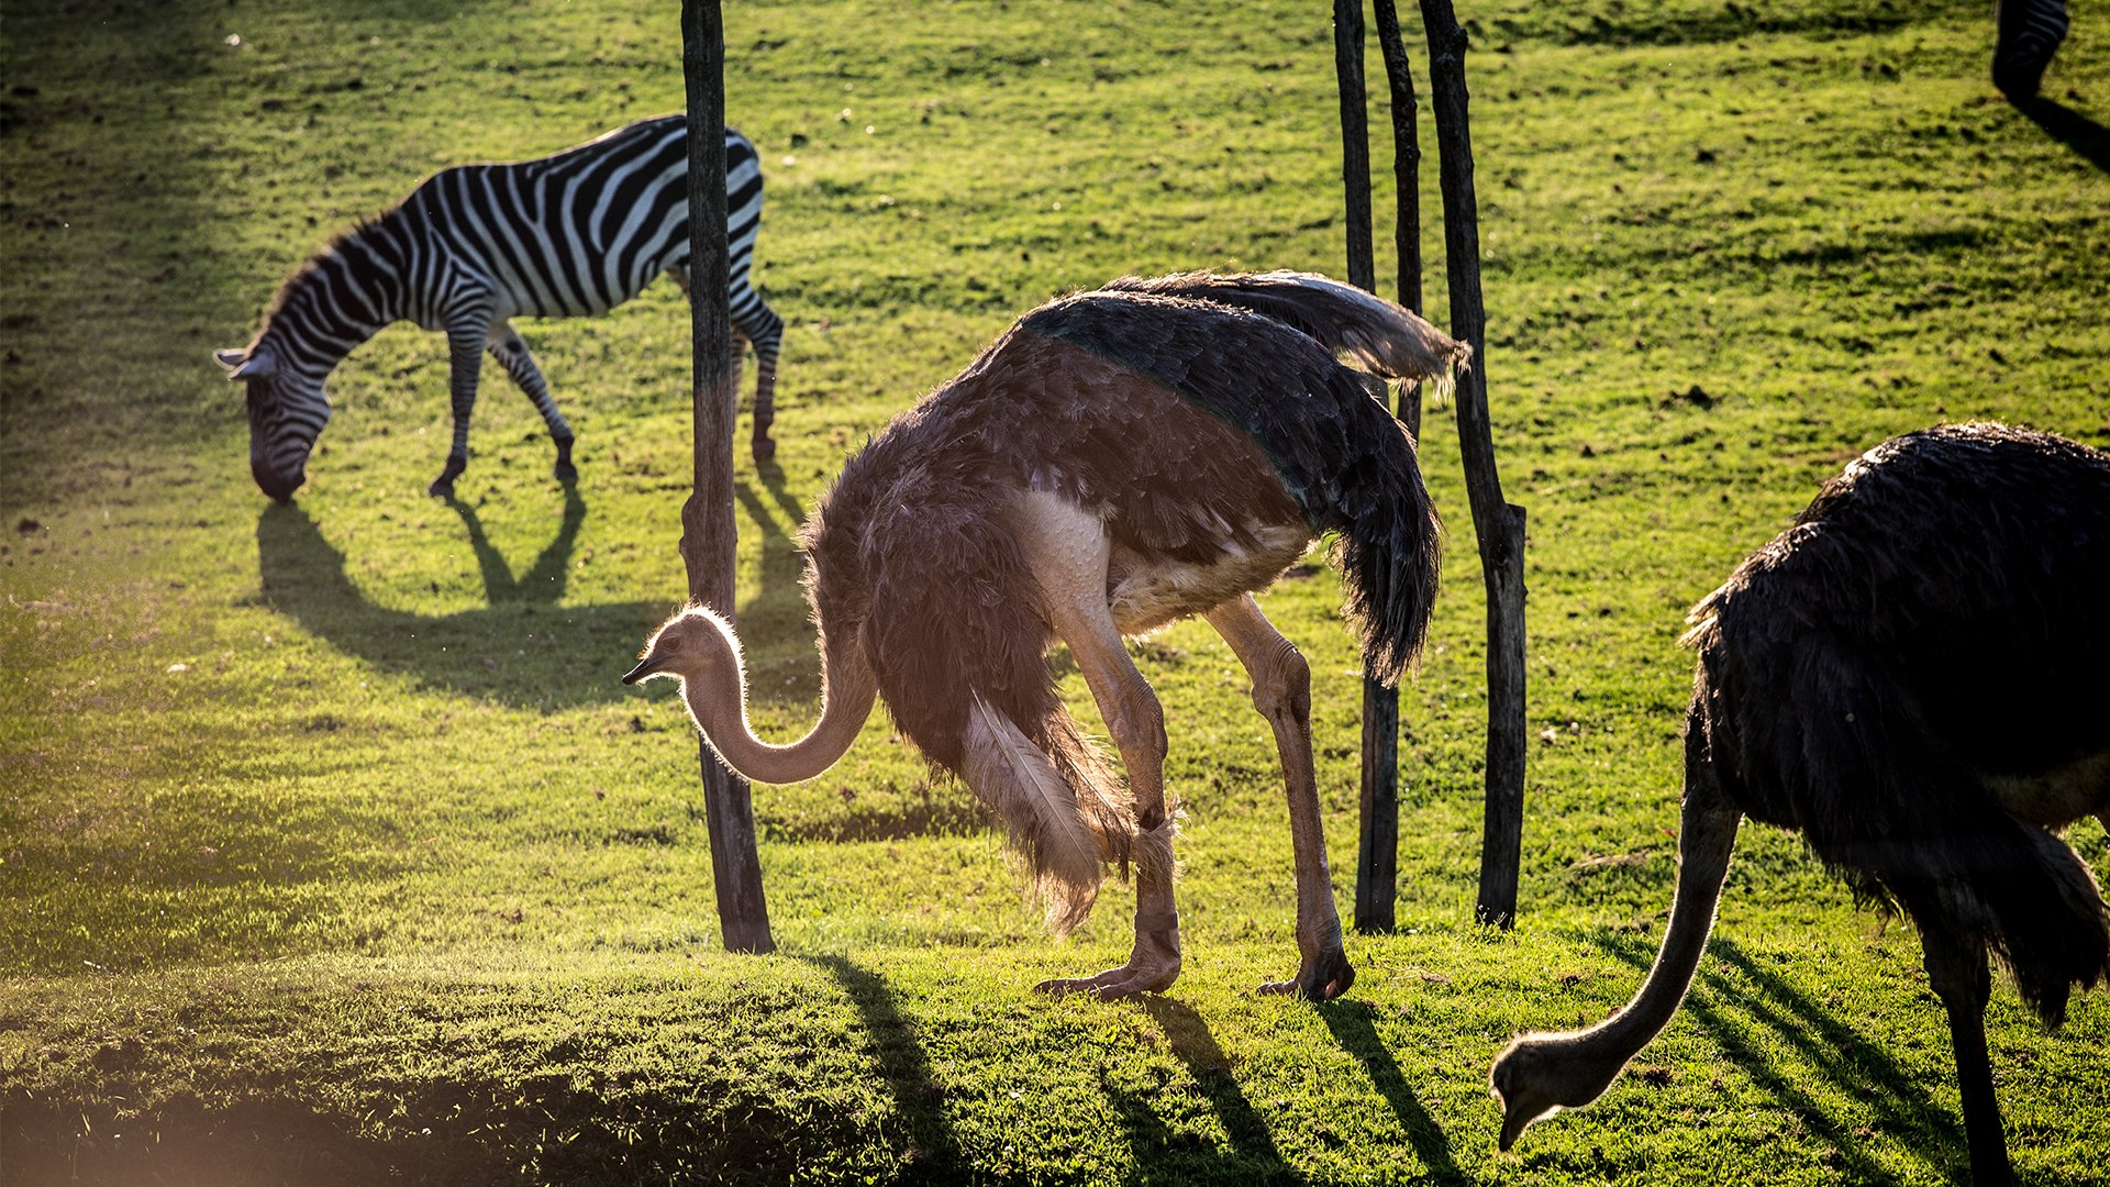
[[[1646, 942], [1625, 936], [1599, 938], [1597, 946], [1644, 976], [1656, 959], [1654, 948]], [[1749, 984], [1707, 967], [1711, 961], [1730, 965]], [[1751, 993], [1751, 986], [1758, 993]], [[1684, 1012], [1707, 1029], [1745, 1075], [1766, 1094], [1791, 1107], [1802, 1124], [1838, 1151], [1842, 1160], [1838, 1170], [1844, 1170], [1848, 1181], [1897, 1183], [1899, 1179], [1869, 1155], [1863, 1132], [1850, 1130], [1804, 1092], [1802, 1084], [1806, 1081], [1798, 1079], [1800, 1071], [1779, 1069], [1766, 1060], [1756, 1043], [1758, 1031], [1770, 1031], [1846, 1096], [1874, 1109], [1878, 1126], [1897, 1136], [1899, 1145], [1931, 1162], [1943, 1179], [1952, 1183], [1971, 1179], [1971, 1160], [1958, 1136], [1962, 1132], [1960, 1117], [1935, 1105], [1888, 1052], [1869, 1043], [1810, 995], [1768, 969], [1764, 961], [1751, 959], [1732, 940], [1715, 936], [1701, 961], [1696, 988], [1703, 993], [1688, 995]]]

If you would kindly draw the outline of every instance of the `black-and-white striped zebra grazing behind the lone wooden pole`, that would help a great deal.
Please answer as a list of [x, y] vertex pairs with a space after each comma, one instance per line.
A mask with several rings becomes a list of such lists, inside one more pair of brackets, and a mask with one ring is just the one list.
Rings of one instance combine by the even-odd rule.
[[[732, 325], [755, 346], [755, 460], [776, 450], [776, 346], [783, 319], [747, 279], [762, 222], [755, 146], [726, 129], [726, 241]], [[392, 321], [447, 334], [454, 448], [430, 486], [452, 496], [468, 465], [468, 414], [490, 351], [534, 401], [557, 444], [557, 477], [578, 477], [572, 427], [513, 329], [515, 317], [584, 317], [669, 272], [688, 291], [688, 125], [658, 116], [553, 156], [441, 169], [392, 209], [361, 222], [295, 270], [264, 329], [213, 357], [249, 384], [249, 471], [285, 503], [306, 479], [329, 420], [323, 378]]]

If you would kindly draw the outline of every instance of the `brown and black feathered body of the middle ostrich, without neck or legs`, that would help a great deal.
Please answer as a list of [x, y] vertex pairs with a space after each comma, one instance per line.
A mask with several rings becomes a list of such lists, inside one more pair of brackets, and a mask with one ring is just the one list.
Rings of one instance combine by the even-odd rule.
[[[823, 646], [859, 648], [895, 722], [950, 771], [966, 771], [987, 705], [1053, 756], [1097, 853], [1123, 860], [1127, 803], [1057, 697], [1017, 498], [1053, 494], [1104, 522], [1123, 634], [1262, 589], [1340, 532], [1350, 617], [1397, 678], [1428, 623], [1437, 517], [1414, 441], [1336, 348], [1412, 376], [1464, 357], [1317, 277], [1123, 279], [1028, 313], [821, 498], [804, 547]], [[1036, 864], [1063, 832], [992, 807]], [[1089, 904], [1066, 902], [1057, 925]]]

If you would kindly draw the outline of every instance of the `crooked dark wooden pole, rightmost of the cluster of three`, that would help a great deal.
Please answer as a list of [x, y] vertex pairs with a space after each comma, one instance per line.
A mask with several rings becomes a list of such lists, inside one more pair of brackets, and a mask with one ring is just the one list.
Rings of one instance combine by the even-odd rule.
[[1458, 444], [1466, 496], [1488, 579], [1488, 800], [1479, 849], [1479, 921], [1517, 917], [1523, 851], [1523, 507], [1502, 498], [1488, 427], [1488, 310], [1479, 294], [1479, 207], [1473, 199], [1473, 131], [1466, 123], [1466, 36], [1450, 0], [1420, 0], [1435, 99], [1450, 332], [1473, 344], [1458, 376]]

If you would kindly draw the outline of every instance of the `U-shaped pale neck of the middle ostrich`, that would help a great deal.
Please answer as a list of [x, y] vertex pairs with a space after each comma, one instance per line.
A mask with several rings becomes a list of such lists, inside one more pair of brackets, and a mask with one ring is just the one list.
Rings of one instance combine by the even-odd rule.
[[717, 750], [726, 767], [732, 767], [755, 784], [798, 784], [827, 771], [850, 750], [850, 743], [857, 741], [857, 731], [871, 716], [878, 682], [871, 678], [871, 667], [865, 665], [863, 655], [857, 653], [857, 644], [823, 644], [821, 720], [814, 722], [806, 737], [789, 746], [762, 741], [747, 724], [747, 678], [741, 667], [738, 646], [734, 646], [732, 655], [734, 661], [730, 665], [713, 667], [717, 676], [709, 680], [709, 686], [703, 686], [705, 680], [694, 676], [686, 678], [682, 695], [688, 699], [688, 712], [696, 718], [696, 729], [703, 731], [711, 750]]

